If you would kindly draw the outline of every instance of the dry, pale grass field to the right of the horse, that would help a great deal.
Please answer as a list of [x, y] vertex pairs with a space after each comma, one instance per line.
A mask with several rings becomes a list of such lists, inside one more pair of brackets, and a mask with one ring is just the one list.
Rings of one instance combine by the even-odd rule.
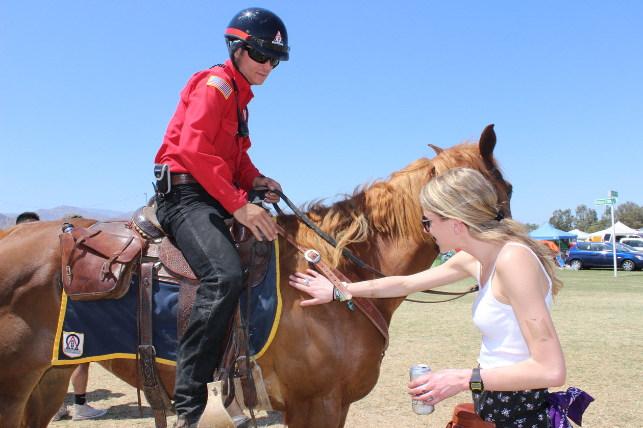
[[[575, 386], [595, 398], [583, 427], [643, 427], [643, 272], [613, 275], [610, 270], [559, 271], [565, 288], [552, 304], [567, 364], [566, 384], [555, 391]], [[448, 288], [462, 290], [474, 283], [469, 279]], [[417, 363], [431, 364], [433, 370], [476, 365], [480, 335], [471, 321], [473, 299], [401, 305], [379, 382], [353, 404], [347, 427], [443, 428], [455, 404], [471, 401], [463, 392], [438, 404], [433, 414], [418, 416], [411, 411], [406, 382], [410, 366]]]

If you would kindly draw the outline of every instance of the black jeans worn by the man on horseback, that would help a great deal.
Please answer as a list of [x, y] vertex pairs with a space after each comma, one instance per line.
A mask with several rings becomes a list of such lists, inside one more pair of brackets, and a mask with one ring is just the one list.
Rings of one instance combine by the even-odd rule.
[[244, 285], [239, 255], [228, 225], [231, 215], [199, 184], [172, 187], [157, 196], [156, 216], [172, 235], [190, 268], [201, 278], [188, 326], [179, 341], [174, 401], [177, 414], [198, 420], [207, 402], [207, 384]]

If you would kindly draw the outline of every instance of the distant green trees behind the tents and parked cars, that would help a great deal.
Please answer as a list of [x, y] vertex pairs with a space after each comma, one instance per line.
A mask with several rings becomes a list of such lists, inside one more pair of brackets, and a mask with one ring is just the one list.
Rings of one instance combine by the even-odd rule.
[[[620, 203], [614, 209], [614, 223], [620, 221], [624, 225], [628, 225], [633, 229], [643, 228], [643, 207], [632, 201]], [[598, 232], [611, 227], [611, 207], [607, 205], [601, 218], [598, 218], [598, 213], [593, 208], [588, 208], [587, 205], [578, 205], [574, 214], [572, 210], [554, 210], [552, 216], [549, 218], [549, 223], [559, 230], [569, 232], [573, 229], [582, 230], [588, 234]], [[536, 223], [526, 223], [525, 232], [529, 233], [532, 230], [540, 227]]]

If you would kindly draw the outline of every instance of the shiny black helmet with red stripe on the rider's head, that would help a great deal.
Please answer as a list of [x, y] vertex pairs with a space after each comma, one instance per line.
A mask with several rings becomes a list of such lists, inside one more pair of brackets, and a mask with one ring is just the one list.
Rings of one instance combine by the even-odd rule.
[[230, 58], [239, 47], [252, 49], [280, 61], [288, 60], [288, 33], [284, 22], [264, 8], [248, 8], [237, 13], [224, 33]]

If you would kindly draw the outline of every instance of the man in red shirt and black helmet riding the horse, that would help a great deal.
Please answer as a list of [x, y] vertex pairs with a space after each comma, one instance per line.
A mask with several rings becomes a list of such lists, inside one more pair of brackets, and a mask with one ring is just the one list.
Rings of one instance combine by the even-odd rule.
[[[276, 239], [269, 213], [247, 201], [253, 187], [267, 186], [268, 203], [279, 201], [271, 191], [281, 191], [248, 157], [247, 105], [251, 85], [262, 85], [288, 60], [288, 35], [275, 13], [248, 8], [233, 17], [224, 36], [230, 59], [190, 78], [155, 159], [156, 215], [201, 278], [177, 352], [175, 427], [196, 427], [203, 414], [206, 384], [244, 285], [228, 220], [235, 218], [259, 241]], [[233, 420], [249, 422], [244, 415]]]

